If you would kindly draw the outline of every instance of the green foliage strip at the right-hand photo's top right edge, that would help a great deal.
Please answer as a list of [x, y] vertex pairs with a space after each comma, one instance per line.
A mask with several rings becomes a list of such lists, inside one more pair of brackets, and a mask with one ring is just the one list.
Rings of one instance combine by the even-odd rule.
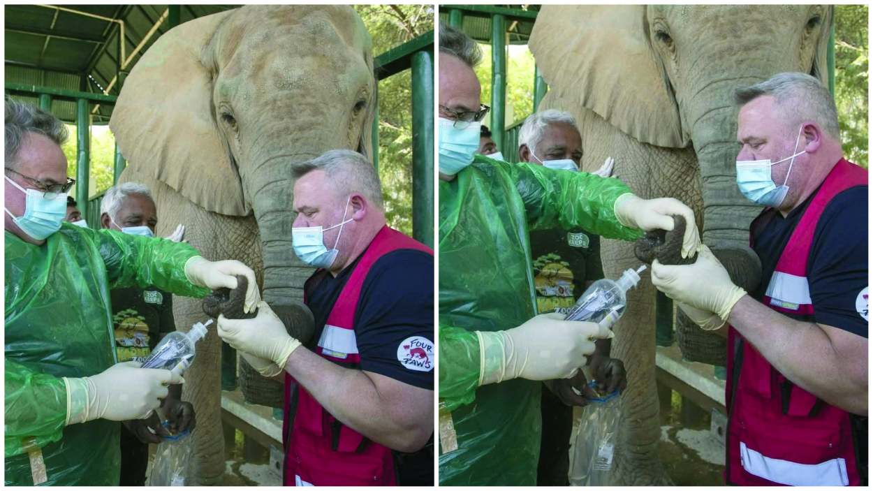
[[836, 5], [835, 100], [842, 151], [851, 162], [869, 164], [868, 86], [870, 49], [867, 5]]

